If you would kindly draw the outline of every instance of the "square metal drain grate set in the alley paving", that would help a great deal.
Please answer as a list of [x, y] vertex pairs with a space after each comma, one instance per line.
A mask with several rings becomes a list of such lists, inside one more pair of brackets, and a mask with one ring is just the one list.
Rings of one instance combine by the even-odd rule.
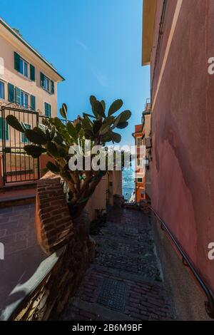
[[104, 279], [98, 303], [116, 311], [125, 309], [126, 283], [120, 280]]

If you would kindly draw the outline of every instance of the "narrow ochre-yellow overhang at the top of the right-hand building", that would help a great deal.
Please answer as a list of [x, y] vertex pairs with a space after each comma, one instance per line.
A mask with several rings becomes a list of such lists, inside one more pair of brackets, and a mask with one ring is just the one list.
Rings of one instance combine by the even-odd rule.
[[143, 0], [142, 66], [151, 63], [157, 0]]

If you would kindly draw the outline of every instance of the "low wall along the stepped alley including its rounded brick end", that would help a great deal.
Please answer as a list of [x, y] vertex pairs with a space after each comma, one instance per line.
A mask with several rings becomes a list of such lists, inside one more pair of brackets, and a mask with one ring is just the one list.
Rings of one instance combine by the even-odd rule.
[[[69, 297], [73, 297], [94, 258], [95, 243], [89, 236], [86, 212], [71, 221], [60, 179], [49, 172], [37, 185], [36, 232], [39, 244], [51, 253], [64, 249], [51, 271], [31, 296], [19, 305], [13, 320], [57, 319]], [[47, 258], [47, 262], [48, 262]]]

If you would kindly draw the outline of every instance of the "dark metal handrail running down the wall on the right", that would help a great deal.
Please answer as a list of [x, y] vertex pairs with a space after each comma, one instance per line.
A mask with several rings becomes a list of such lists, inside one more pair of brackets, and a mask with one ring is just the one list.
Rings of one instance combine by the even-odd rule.
[[[148, 205], [148, 204], [147, 204]], [[164, 230], [170, 239], [172, 240], [173, 244], [175, 245], [176, 249], [178, 249], [178, 252], [180, 252], [180, 255], [183, 260], [183, 264], [185, 267], [189, 267], [190, 271], [192, 272], [193, 276], [195, 277], [196, 281], [200, 285], [200, 288], [205, 293], [205, 296], [207, 297], [208, 301], [205, 301], [205, 310], [208, 313], [208, 316], [210, 316], [211, 319], [214, 319], [214, 294], [213, 291], [208, 287], [208, 285], [205, 283], [205, 280], [200, 276], [198, 271], [193, 266], [193, 263], [190, 261], [188, 255], [183, 251], [182, 247], [180, 247], [180, 244], [178, 243], [177, 239], [174, 237], [173, 233], [170, 232], [167, 225], [165, 225], [165, 222], [161, 219], [161, 217], [158, 215], [156, 210], [153, 209], [150, 205], [148, 205], [148, 208], [153, 212], [153, 214], [157, 217], [158, 221], [161, 222], [161, 229]]]

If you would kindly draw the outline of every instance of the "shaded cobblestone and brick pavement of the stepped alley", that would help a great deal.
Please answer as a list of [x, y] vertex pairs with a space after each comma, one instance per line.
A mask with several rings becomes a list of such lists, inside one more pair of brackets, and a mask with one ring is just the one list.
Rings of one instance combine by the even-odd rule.
[[147, 215], [113, 208], [93, 239], [96, 259], [62, 320], [174, 319]]

